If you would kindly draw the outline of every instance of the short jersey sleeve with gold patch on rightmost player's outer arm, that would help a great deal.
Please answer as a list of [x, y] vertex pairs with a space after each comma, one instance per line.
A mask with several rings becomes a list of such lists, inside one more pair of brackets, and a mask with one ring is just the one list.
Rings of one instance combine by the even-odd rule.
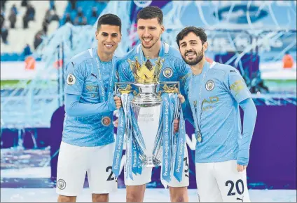
[[235, 70], [235, 68], [228, 70], [228, 76], [225, 78], [224, 82], [237, 103], [240, 103], [247, 98], [251, 98], [251, 93], [247, 88], [247, 84], [245, 84], [241, 74]]

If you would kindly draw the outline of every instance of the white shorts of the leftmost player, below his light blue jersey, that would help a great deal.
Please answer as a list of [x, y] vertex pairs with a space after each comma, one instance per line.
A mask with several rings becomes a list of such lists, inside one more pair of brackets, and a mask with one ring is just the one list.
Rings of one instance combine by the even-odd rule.
[[61, 143], [57, 162], [57, 193], [78, 196], [83, 189], [85, 173], [92, 194], [107, 194], [118, 190], [118, 180], [112, 173], [114, 143], [100, 147], [79, 147]]

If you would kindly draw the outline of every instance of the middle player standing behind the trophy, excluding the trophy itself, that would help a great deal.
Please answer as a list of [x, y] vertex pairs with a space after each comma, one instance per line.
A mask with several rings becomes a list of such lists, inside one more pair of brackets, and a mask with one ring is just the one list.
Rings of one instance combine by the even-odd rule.
[[[160, 81], [180, 81], [181, 87], [184, 86], [184, 81], [187, 75], [191, 74], [191, 70], [177, 48], [169, 46], [160, 40], [161, 34], [164, 32], [163, 12], [155, 6], [147, 6], [139, 11], [137, 15], [137, 34], [141, 44], [136, 46], [132, 51], [127, 53], [118, 67], [118, 75], [120, 81], [134, 81], [134, 75], [127, 60], [135, 60], [135, 57], [140, 61], [155, 64], [158, 57], [165, 58], [162, 70], [160, 72]], [[181, 89], [181, 93], [183, 93]], [[174, 130], [177, 131], [178, 123], [174, 124]], [[186, 143], [185, 143], [186, 145]], [[169, 185], [170, 199], [172, 202], [188, 202], [187, 187], [188, 180], [188, 152], [185, 148], [185, 162], [182, 181], [177, 181], [172, 176]], [[152, 168], [144, 167], [141, 175], [133, 174], [133, 180], [125, 179], [127, 186], [127, 202], [143, 202], [146, 183], [151, 182]], [[126, 176], [125, 176], [126, 177]]]

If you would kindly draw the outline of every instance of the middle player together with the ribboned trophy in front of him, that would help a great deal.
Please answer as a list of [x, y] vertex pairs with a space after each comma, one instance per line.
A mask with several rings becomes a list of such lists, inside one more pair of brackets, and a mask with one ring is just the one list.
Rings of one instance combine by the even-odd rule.
[[162, 167], [161, 181], [169, 185], [171, 201], [188, 202], [188, 152], [178, 89], [191, 70], [176, 48], [160, 40], [164, 30], [160, 8], [147, 6], [139, 11], [141, 44], [127, 53], [118, 67], [125, 87], [118, 88], [123, 108], [119, 112], [113, 173], [119, 175], [126, 133], [127, 202], [143, 202], [152, 167], [158, 165]]

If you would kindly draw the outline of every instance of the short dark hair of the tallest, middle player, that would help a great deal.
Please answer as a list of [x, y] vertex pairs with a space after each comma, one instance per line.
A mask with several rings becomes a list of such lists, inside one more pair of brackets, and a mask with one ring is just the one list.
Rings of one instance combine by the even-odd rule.
[[137, 13], [137, 20], [139, 19], [153, 19], [157, 18], [160, 25], [163, 24], [163, 12], [158, 6], [146, 6]]

